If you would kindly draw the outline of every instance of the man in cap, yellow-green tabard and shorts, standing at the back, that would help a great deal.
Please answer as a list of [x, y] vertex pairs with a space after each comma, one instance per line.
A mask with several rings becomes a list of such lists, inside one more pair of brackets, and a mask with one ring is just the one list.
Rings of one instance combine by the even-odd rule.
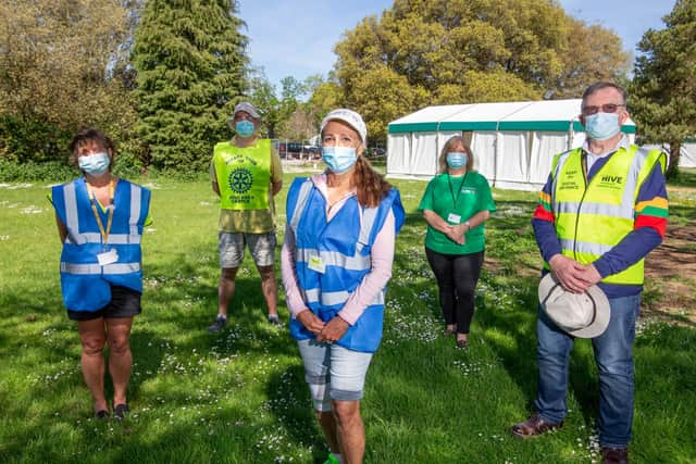
[[235, 277], [249, 248], [261, 275], [268, 319], [278, 324], [275, 283], [275, 225], [273, 197], [283, 187], [281, 158], [271, 140], [258, 137], [261, 115], [249, 102], [235, 106], [228, 120], [232, 141], [215, 145], [210, 179], [220, 196], [220, 286], [217, 317], [208, 327], [217, 331], [227, 324], [227, 306], [235, 292]]

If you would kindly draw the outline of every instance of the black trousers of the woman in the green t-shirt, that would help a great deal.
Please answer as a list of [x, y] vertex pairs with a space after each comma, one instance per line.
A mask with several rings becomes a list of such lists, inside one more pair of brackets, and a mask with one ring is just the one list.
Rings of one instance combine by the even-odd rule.
[[474, 291], [483, 265], [483, 251], [442, 254], [425, 248], [425, 254], [437, 279], [439, 306], [445, 324], [457, 324], [458, 334], [469, 334], [474, 316]]

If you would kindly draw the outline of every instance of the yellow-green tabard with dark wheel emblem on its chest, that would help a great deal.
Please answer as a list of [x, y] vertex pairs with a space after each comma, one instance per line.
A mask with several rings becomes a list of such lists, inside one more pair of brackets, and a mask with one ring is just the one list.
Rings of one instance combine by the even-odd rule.
[[271, 183], [271, 140], [259, 139], [251, 147], [231, 142], [215, 145], [215, 176], [223, 210], [268, 210]]

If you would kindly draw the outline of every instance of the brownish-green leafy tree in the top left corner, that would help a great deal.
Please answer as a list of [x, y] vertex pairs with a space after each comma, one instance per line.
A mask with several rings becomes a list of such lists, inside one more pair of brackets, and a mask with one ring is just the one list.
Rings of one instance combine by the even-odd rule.
[[126, 30], [117, 0], [0, 2], [0, 153], [65, 160], [83, 125], [126, 138], [135, 106], [109, 72]]

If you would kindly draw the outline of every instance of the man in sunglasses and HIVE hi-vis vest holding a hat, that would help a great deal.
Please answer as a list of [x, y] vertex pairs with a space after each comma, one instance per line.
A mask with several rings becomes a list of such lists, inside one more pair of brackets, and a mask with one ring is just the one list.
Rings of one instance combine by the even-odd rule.
[[585, 143], [554, 159], [539, 195], [532, 224], [551, 275], [539, 285], [536, 413], [512, 426], [520, 438], [562, 426], [573, 340], [592, 338], [602, 463], [629, 462], [643, 260], [662, 241], [668, 216], [664, 153], [630, 143], [621, 133], [627, 118], [625, 90], [589, 86]]

